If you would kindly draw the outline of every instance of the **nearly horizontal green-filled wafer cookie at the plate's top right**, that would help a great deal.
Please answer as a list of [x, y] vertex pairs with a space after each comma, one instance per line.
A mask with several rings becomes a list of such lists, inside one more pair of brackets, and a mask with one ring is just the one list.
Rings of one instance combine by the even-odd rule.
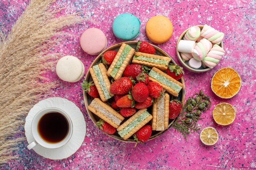
[[132, 63], [141, 64], [150, 68], [156, 67], [162, 71], [166, 71], [171, 58], [160, 55], [153, 55], [147, 53], [136, 52]]

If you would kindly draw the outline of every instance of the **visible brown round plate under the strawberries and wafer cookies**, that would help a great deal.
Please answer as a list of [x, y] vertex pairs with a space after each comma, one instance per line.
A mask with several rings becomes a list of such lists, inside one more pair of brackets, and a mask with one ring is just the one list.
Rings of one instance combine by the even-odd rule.
[[[113, 46], [110, 46], [108, 49], [104, 50], [102, 53], [100, 53], [100, 54], [95, 58], [95, 60], [94, 60], [94, 61], [92, 62], [92, 64], [91, 64], [90, 68], [92, 68], [92, 66], [94, 66], [95, 64], [99, 64], [99, 63], [101, 62], [101, 56], [103, 55], [103, 53], [105, 53], [106, 51], [110, 51], [110, 50], [118, 51], [119, 48], [120, 48], [120, 46], [121, 46], [121, 44], [123, 44], [123, 43], [126, 43], [126, 44], [130, 45], [132, 48], [136, 49], [137, 41], [121, 42], [121, 43], [119, 43], [119, 44], [115, 44], [115, 45], [113, 45]], [[170, 62], [170, 63], [176, 64], [175, 61], [172, 59], [172, 57], [171, 57], [170, 55], [168, 55], [165, 51], [163, 51], [162, 49], [160, 49], [159, 47], [157, 47], [157, 46], [155, 46], [155, 45], [153, 45], [153, 44], [151, 44], [151, 45], [155, 48], [155, 51], [156, 51], [155, 54], [156, 54], [156, 55], [162, 55], [162, 56], [165, 56], [165, 57], [170, 57], [170, 58], [171, 58], [171, 62]], [[90, 68], [89, 68], [89, 69], [90, 69]], [[88, 81], [88, 82], [92, 81], [92, 77], [91, 77], [91, 75], [90, 75], [89, 69], [88, 69], [88, 71], [87, 71], [87, 74], [85, 75], [85, 80]], [[183, 77], [182, 77], [179, 81], [183, 84], [184, 87], [183, 87], [182, 90], [180, 91], [179, 96], [177, 97], [177, 99], [180, 100], [180, 101], [182, 102], [182, 104], [184, 104], [184, 100], [185, 100], [185, 83], [184, 83]], [[176, 97], [172, 97], [172, 95], [170, 95], [170, 100], [171, 100], [171, 99], [174, 99], [174, 98], [176, 98]], [[88, 115], [89, 115], [90, 118], [92, 119], [93, 123], [96, 125], [96, 122], [99, 120], [99, 117], [98, 117], [97, 115], [94, 115], [94, 113], [92, 113], [92, 112], [88, 109], [88, 106], [89, 106], [90, 103], [92, 102], [93, 97], [91, 97], [90, 95], [87, 95], [87, 93], [85, 93], [85, 92], [83, 91], [83, 100], [84, 100], [85, 108], [86, 108], [86, 110], [87, 110]], [[110, 99], [109, 101], [112, 101], [112, 100]], [[108, 104], [110, 104], [110, 103], [108, 102]], [[150, 108], [148, 108], [149, 113], [151, 112], [151, 108], [152, 108], [152, 106], [150, 106]], [[128, 118], [129, 118], [129, 117], [128, 117]], [[122, 121], [122, 123], [124, 123], [128, 118], [124, 119], [124, 121]], [[171, 124], [173, 124], [174, 121], [175, 121], [175, 119], [174, 119], [174, 120], [170, 120], [170, 119], [169, 119], [168, 129], [171, 127]], [[121, 124], [122, 124], [122, 123], [121, 123]], [[167, 129], [166, 129], [166, 130], [167, 130]], [[162, 135], [166, 130], [164, 130], [164, 131], [155, 131], [155, 130], [153, 130], [152, 135], [151, 135], [151, 137], [149, 138], [149, 140], [155, 139], [155, 138], [158, 137], [159, 135]], [[106, 134], [106, 135], [108, 135], [108, 134]], [[133, 140], [133, 137], [130, 137], [130, 139], [124, 140], [123, 138], [121, 138], [121, 137], [118, 135], [117, 132], [115, 132], [115, 134], [113, 134], [113, 135], [108, 135], [108, 136], [110, 136], [110, 137], [112, 137], [112, 138], [114, 138], [114, 139], [116, 139], [116, 140], [119, 140], [119, 141], [135, 142], [135, 141]]]

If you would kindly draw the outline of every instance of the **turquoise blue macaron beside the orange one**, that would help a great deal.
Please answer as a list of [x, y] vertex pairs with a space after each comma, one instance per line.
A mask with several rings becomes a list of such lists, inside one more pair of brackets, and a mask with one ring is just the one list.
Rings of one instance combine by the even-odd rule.
[[123, 13], [115, 18], [112, 29], [115, 36], [121, 40], [134, 40], [139, 36], [140, 21], [130, 13]]

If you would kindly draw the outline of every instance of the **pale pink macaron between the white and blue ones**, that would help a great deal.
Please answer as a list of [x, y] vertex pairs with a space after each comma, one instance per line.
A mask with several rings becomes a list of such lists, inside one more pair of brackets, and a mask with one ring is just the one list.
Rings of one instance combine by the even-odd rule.
[[108, 40], [100, 29], [90, 28], [81, 35], [80, 45], [85, 53], [98, 55], [106, 49]]

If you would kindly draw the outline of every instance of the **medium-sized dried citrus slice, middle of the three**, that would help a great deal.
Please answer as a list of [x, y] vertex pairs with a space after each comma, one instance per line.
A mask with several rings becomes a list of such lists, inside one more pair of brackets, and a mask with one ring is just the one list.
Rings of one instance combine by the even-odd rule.
[[231, 104], [220, 103], [213, 109], [213, 119], [219, 125], [229, 125], [236, 118], [236, 110]]

